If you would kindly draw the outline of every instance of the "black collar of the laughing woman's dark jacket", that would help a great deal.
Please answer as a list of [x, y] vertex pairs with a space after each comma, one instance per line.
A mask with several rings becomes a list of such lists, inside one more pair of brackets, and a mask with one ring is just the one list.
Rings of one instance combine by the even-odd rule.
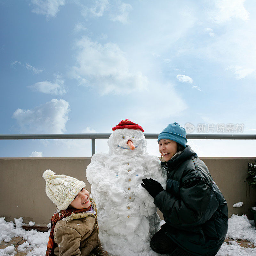
[[182, 162], [189, 159], [190, 157], [197, 156], [195, 151], [192, 150], [189, 145], [187, 145], [186, 148], [184, 148], [184, 150], [180, 152], [181, 153], [179, 155], [177, 155], [173, 159], [170, 159], [168, 162], [162, 162], [161, 165], [165, 169], [169, 169], [169, 168], [172, 169], [172, 168], [176, 168], [178, 165], [180, 165]]

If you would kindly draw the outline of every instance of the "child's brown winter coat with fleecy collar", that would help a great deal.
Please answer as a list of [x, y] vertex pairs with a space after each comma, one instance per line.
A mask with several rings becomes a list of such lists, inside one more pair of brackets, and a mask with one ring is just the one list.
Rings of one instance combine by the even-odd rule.
[[56, 256], [108, 256], [99, 240], [99, 228], [92, 213], [72, 213], [56, 223], [53, 232]]

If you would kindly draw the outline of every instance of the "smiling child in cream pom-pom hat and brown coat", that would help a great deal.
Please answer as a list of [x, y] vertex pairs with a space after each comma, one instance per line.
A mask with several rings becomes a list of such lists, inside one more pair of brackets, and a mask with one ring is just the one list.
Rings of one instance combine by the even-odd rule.
[[46, 256], [108, 256], [99, 240], [96, 205], [85, 183], [54, 174], [43, 173], [46, 194], [60, 210], [51, 219]]

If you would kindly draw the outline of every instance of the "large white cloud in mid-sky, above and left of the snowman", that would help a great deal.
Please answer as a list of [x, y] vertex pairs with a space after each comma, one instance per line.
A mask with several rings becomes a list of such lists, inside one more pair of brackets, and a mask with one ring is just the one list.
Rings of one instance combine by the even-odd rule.
[[100, 94], [130, 93], [146, 89], [148, 79], [141, 72], [132, 71], [125, 53], [116, 44], [99, 44], [88, 38], [76, 43], [79, 51], [77, 65], [71, 76], [79, 84], [98, 87]]

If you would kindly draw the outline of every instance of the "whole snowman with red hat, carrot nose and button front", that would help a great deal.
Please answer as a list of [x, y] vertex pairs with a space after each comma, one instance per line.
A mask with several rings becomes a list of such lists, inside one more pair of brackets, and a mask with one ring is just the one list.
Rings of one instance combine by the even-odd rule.
[[146, 152], [140, 125], [126, 119], [112, 130], [108, 154], [94, 154], [86, 169], [97, 205], [100, 241], [114, 256], [157, 255], [149, 241], [160, 229], [160, 218], [153, 198], [140, 184], [152, 178], [165, 189], [166, 173], [158, 157]]

